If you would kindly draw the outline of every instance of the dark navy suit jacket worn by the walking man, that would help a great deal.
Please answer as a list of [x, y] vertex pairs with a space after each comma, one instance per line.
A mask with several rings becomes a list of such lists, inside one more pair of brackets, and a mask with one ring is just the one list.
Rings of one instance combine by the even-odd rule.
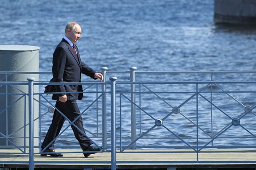
[[[63, 38], [60, 44], [57, 45], [53, 55], [53, 80], [52, 82], [81, 82], [81, 73], [90, 76], [93, 79], [95, 71], [81, 62], [79, 51], [75, 45], [78, 58], [74, 53], [73, 47]], [[67, 93], [67, 92], [82, 92], [81, 85], [60, 85], [54, 86], [54, 92], [62, 92], [62, 94], [53, 94], [53, 100], [59, 100], [59, 96], [67, 94], [67, 100], [81, 100], [82, 93]]]

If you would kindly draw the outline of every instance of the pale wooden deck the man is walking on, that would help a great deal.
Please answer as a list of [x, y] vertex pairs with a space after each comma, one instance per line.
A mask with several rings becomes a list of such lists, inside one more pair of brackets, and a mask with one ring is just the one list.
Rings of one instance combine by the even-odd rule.
[[[56, 150], [60, 152], [81, 151], [81, 150]], [[130, 153], [129, 151], [135, 151]], [[143, 151], [144, 153], [141, 153]], [[170, 153], [146, 153], [147, 151], [170, 151]], [[256, 168], [256, 150], [235, 150], [241, 152], [232, 152], [234, 150], [217, 150], [225, 151], [221, 153], [200, 153], [199, 163], [195, 163], [195, 153], [172, 153], [181, 150], [127, 150], [129, 153], [117, 153], [117, 168], [118, 169], [154, 169], [154, 168]], [[185, 150], [182, 150], [185, 151]], [[205, 150], [204, 150], [205, 151]], [[209, 151], [209, 150], [208, 150]], [[210, 150], [216, 151], [216, 150]], [[8, 168], [27, 168], [28, 164], [12, 163], [10, 161], [28, 161], [28, 155], [12, 154], [17, 150], [0, 150], [0, 167]], [[38, 152], [38, 149], [35, 149]], [[5, 154], [6, 153], [6, 154]], [[35, 168], [61, 168], [61, 169], [84, 169], [84, 168], [111, 168], [111, 153], [96, 153], [87, 158], [83, 157], [82, 153], [64, 153], [64, 157], [42, 157], [38, 154], [34, 155]], [[78, 163], [83, 161], [83, 163]], [[105, 163], [100, 163], [104, 161]], [[136, 163], [127, 163], [134, 161]], [[169, 163], [164, 163], [169, 161]], [[171, 161], [171, 162], [170, 162]], [[189, 162], [186, 162], [189, 161]], [[208, 161], [210, 163], [206, 163]], [[217, 161], [221, 161], [217, 163]], [[224, 163], [224, 161], [226, 161]], [[242, 162], [243, 161], [243, 162]], [[46, 162], [46, 163], [43, 163]], [[73, 164], [72, 164], [73, 162]], [[109, 163], [107, 163], [109, 162]]]

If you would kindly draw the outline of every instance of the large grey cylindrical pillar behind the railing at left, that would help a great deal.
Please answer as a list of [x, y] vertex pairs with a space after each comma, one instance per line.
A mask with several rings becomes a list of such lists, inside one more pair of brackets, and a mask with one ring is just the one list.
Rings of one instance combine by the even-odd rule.
[[[0, 45], [0, 71], [39, 71], [39, 49], [28, 45]], [[27, 77], [39, 80], [37, 74], [0, 74], [0, 82], [27, 82]], [[38, 91], [39, 87], [34, 86], [34, 93]], [[28, 93], [28, 86], [0, 86], [0, 93], [19, 94], [0, 94], [0, 112], [23, 95], [13, 106], [0, 113], [0, 132], [22, 149], [24, 145], [28, 146], [28, 97], [23, 94]], [[38, 100], [39, 97], [35, 95], [34, 98]], [[39, 103], [34, 101], [34, 119], [38, 118], [38, 113]], [[34, 137], [38, 137], [38, 125], [39, 121], [34, 121]], [[38, 145], [38, 141], [35, 138], [34, 145]], [[15, 148], [12, 142], [0, 135], [0, 147]]]

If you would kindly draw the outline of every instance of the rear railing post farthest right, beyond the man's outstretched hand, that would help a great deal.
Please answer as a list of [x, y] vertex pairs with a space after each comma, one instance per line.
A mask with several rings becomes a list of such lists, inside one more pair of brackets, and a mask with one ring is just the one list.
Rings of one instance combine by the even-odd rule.
[[[130, 67], [130, 82], [135, 82], [136, 67]], [[135, 103], [135, 84], [131, 84], [131, 101]], [[136, 114], [135, 105], [131, 103], [131, 142], [136, 140]], [[136, 142], [131, 145], [132, 149], [136, 148]]]

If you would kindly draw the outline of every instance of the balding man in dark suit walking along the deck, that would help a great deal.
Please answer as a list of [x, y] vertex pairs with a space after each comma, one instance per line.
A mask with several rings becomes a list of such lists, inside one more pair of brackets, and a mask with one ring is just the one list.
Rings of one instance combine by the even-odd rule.
[[[57, 45], [53, 54], [53, 82], [81, 82], [81, 73], [90, 76], [93, 79], [103, 80], [101, 73], [97, 73], [94, 69], [88, 67], [85, 63], [81, 62], [79, 51], [75, 43], [81, 38], [81, 27], [75, 22], [67, 23], [65, 29], [65, 37]], [[57, 100], [55, 107], [61, 111], [70, 121], [73, 121], [80, 115], [79, 108], [76, 100], [81, 100], [83, 97], [83, 89], [81, 85], [57, 85], [54, 86], [55, 92], [61, 94], [53, 94], [52, 99]], [[81, 93], [68, 93], [68, 92], [81, 92]], [[46, 137], [41, 145], [43, 152], [49, 152], [41, 156], [62, 157], [63, 154], [54, 151], [54, 142], [49, 145], [60, 133], [61, 127], [65, 122], [65, 118], [56, 109], [52, 124], [46, 134]], [[84, 134], [81, 116], [74, 122]], [[101, 151], [100, 148], [91, 146], [93, 143], [76, 127], [71, 126], [75, 138], [78, 140], [84, 153], [84, 157], [94, 154], [95, 151]], [[47, 146], [49, 145], [49, 146]], [[92, 152], [90, 152], [92, 151]]]

